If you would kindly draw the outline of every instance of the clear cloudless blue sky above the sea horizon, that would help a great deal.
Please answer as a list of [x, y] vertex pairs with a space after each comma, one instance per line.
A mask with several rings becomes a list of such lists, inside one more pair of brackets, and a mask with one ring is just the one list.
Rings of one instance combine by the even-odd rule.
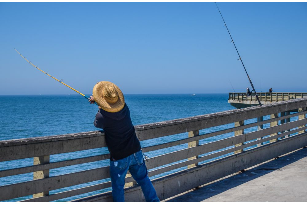
[[[307, 92], [307, 3], [218, 3], [256, 91]], [[213, 2], [0, 3], [0, 94], [227, 93], [251, 87]]]

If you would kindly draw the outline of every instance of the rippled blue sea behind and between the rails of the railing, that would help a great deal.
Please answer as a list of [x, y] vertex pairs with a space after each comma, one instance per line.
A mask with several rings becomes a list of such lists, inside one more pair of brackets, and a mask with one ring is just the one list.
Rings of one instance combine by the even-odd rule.
[[[131, 118], [134, 125], [234, 109], [230, 104], [227, 103], [227, 100], [227, 93], [196, 94], [196, 96], [192, 96], [192, 94], [125, 95], [125, 101], [130, 108]], [[80, 95], [0, 96], [0, 107], [0, 140], [32, 138], [98, 130], [93, 125], [95, 114], [98, 111], [97, 106], [94, 104], [90, 105], [87, 100]], [[251, 119], [250, 122], [256, 122], [256, 120]], [[229, 127], [234, 127], [234, 124], [227, 124], [220, 127], [213, 127], [206, 130], [202, 130], [200, 131], [200, 134]], [[255, 128], [250, 129], [250, 131], [253, 130], [255, 130]], [[207, 138], [201, 140], [200, 144], [212, 142], [213, 140], [218, 140], [230, 136], [233, 136], [233, 133], [224, 134], [214, 138]], [[171, 135], [163, 138], [144, 141], [141, 142], [141, 145], [142, 147], [145, 147], [163, 142], [178, 140], [185, 137], [187, 137], [187, 133]], [[149, 157], [153, 157], [184, 148], [187, 148], [187, 144], [152, 151], [146, 154]], [[108, 153], [107, 148], [98, 148], [80, 152], [51, 155], [50, 162], [99, 155], [103, 153]], [[0, 170], [28, 166], [32, 164], [33, 158], [17, 161], [0, 162]], [[56, 176], [92, 168], [99, 168], [108, 165], [109, 161], [105, 160], [57, 168], [50, 170], [50, 176]], [[175, 171], [178, 170], [180, 169], [177, 169]], [[170, 172], [166, 172], [165, 174], [169, 173]], [[151, 179], [156, 178], [158, 176], [153, 176], [151, 177]], [[21, 181], [29, 181], [32, 179], [33, 173], [9, 176], [5, 178], [0, 178], [0, 186]], [[108, 181], [108, 179], [50, 191], [50, 194], [67, 191], [74, 188], [89, 186], [105, 181]], [[111, 189], [108, 188], [100, 191], [87, 193], [84, 195], [61, 199], [58, 201], [68, 201], [110, 190]], [[32, 196], [15, 198], [10, 201], [18, 201], [31, 197]]]

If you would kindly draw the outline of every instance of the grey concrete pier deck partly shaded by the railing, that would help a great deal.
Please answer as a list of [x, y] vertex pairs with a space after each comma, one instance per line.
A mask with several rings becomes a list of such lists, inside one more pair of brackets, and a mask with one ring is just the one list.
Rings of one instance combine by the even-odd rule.
[[307, 148], [219, 179], [166, 202], [306, 202]]

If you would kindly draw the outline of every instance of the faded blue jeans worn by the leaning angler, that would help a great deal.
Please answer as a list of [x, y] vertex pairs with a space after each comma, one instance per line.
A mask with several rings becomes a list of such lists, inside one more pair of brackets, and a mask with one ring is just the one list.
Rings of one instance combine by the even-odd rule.
[[125, 202], [124, 186], [128, 169], [134, 180], [141, 186], [146, 202], [159, 202], [153, 184], [148, 178], [142, 150], [126, 158], [110, 161], [113, 202]]

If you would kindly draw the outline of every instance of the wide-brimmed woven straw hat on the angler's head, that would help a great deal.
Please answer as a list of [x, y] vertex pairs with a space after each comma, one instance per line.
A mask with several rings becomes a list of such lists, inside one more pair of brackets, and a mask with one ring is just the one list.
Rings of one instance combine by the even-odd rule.
[[122, 91], [110, 81], [100, 81], [93, 88], [96, 103], [105, 111], [114, 113], [122, 110], [125, 99]]

